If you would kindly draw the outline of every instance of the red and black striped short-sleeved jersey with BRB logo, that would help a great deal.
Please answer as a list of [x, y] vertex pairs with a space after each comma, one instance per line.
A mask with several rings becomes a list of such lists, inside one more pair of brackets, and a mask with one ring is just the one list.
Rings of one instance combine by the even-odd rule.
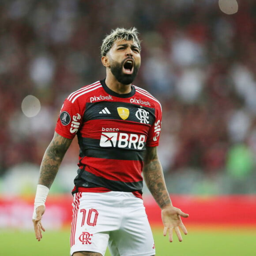
[[78, 137], [73, 193], [112, 190], [141, 197], [143, 154], [146, 147], [158, 146], [161, 120], [158, 100], [134, 85], [130, 93], [117, 94], [102, 80], [70, 94], [55, 131]]

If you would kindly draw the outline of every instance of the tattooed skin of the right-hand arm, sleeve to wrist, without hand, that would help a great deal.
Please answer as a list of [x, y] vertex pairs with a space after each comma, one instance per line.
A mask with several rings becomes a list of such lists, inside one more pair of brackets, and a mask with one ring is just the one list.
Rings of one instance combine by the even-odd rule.
[[148, 189], [159, 207], [162, 208], [171, 204], [156, 147], [147, 148], [147, 154], [144, 159], [143, 176]]

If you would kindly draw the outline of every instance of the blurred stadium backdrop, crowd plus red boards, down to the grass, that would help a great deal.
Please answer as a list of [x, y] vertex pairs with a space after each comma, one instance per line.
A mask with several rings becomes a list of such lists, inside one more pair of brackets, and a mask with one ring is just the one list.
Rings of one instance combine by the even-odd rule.
[[[185, 223], [255, 233], [256, 2], [238, 7], [228, 15], [218, 0], [2, 0], [0, 233], [32, 229], [38, 169], [60, 107], [70, 92], [105, 77], [99, 47], [117, 26], [140, 32], [134, 84], [162, 103], [158, 154], [175, 204], [190, 213]], [[27, 95], [40, 105], [27, 100], [22, 108]], [[47, 228], [70, 223], [77, 156], [74, 141], [50, 190]], [[144, 196], [158, 225], [147, 188]]]

